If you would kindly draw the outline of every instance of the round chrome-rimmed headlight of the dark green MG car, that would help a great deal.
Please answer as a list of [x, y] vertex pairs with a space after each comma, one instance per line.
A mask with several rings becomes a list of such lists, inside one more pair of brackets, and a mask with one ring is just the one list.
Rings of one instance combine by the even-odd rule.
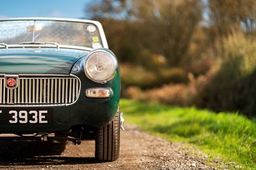
[[[92, 63], [90, 63], [90, 62], [92, 62], [91, 59], [95, 58], [95, 57], [96, 58], [99, 57], [99, 56], [97, 56], [97, 54], [98, 55], [104, 55], [104, 57], [109, 59], [108, 62], [111, 62], [111, 65], [112, 65], [111, 66], [112, 68], [111, 68], [110, 72], [108, 73], [107, 76], [104, 76], [104, 79], [95, 78], [95, 77], [98, 77], [98, 76], [93, 76], [93, 72], [91, 72], [89, 70], [89, 65], [90, 64], [92, 65]], [[100, 57], [102, 58], [102, 56], [100, 56]], [[106, 63], [104, 63], [104, 64], [106, 64]], [[90, 79], [94, 82], [106, 83], [107, 81], [110, 81], [111, 79], [113, 79], [113, 77], [115, 76], [116, 66], [117, 66], [116, 58], [111, 52], [109, 52], [108, 50], [104, 50], [104, 49], [97, 49], [97, 50], [93, 50], [92, 52], [90, 52], [88, 54], [88, 58], [84, 62], [84, 73], [85, 73], [86, 77], [88, 77], [88, 79]], [[94, 71], [95, 71], [94, 75], [100, 75], [100, 72], [99, 71], [97, 72], [97, 66], [96, 65], [95, 65], [95, 70]], [[104, 72], [104, 71], [105, 70], [103, 70], [102, 72]]]

